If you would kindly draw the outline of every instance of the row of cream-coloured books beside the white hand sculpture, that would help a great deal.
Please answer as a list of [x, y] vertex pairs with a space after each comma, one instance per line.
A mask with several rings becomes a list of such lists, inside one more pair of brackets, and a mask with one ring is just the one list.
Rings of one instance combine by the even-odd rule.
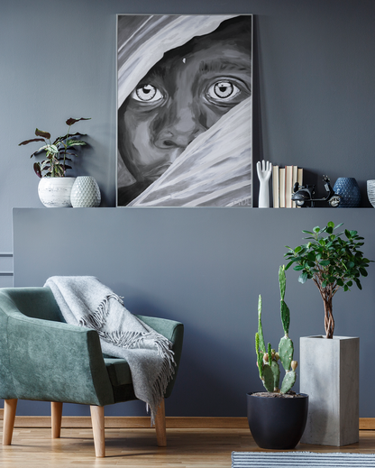
[[297, 166], [272, 166], [272, 197], [274, 208], [295, 208], [292, 201], [293, 187], [303, 185], [303, 170]]

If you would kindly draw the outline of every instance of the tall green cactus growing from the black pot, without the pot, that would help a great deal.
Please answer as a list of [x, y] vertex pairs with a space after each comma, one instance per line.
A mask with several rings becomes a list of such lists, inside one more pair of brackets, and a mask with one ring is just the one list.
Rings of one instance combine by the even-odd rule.
[[[255, 334], [255, 350], [257, 353], [259, 376], [266, 390], [277, 393], [288, 393], [296, 382], [297, 361], [293, 361], [294, 347], [292, 340], [288, 336], [290, 312], [284, 300], [286, 283], [285, 266], [283, 265], [279, 267], [279, 288], [280, 316], [285, 335], [280, 339], [279, 352], [276, 353], [270, 343], [266, 348], [264, 342], [261, 325], [261, 295], [258, 300], [258, 332]], [[279, 361], [286, 371], [281, 388], [279, 388]]]

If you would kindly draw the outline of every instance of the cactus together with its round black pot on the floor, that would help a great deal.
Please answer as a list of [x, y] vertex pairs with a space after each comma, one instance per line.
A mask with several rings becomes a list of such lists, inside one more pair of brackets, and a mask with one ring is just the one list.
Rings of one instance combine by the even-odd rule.
[[[308, 396], [291, 391], [296, 382], [297, 361], [293, 361], [294, 346], [289, 338], [290, 313], [284, 301], [286, 289], [285, 267], [279, 267], [280, 315], [284, 336], [279, 350], [266, 347], [261, 325], [261, 295], [258, 301], [258, 332], [255, 350], [259, 375], [266, 392], [247, 394], [247, 418], [252, 436], [261, 448], [293, 449], [305, 426]], [[279, 386], [281, 362], [285, 376]]]

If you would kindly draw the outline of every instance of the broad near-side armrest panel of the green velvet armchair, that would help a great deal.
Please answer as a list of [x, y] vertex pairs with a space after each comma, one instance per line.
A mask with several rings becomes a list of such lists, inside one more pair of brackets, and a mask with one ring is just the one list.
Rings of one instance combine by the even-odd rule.
[[26, 317], [15, 307], [7, 316], [8, 362], [3, 364], [13, 389], [0, 386], [2, 398], [114, 403], [96, 331]]

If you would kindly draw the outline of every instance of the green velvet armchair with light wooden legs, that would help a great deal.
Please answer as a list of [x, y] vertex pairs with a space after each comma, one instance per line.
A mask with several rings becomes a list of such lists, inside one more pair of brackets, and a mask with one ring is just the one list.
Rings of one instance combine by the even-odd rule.
[[[184, 327], [156, 317], [140, 317], [173, 344], [176, 381]], [[49, 288], [0, 289], [0, 399], [5, 399], [3, 445], [12, 442], [18, 399], [50, 401], [52, 437], [60, 434], [62, 404], [90, 405], [96, 456], [105, 456], [105, 405], [136, 399], [124, 359], [104, 356], [95, 330], [64, 322]], [[155, 428], [167, 445], [164, 400]]]

